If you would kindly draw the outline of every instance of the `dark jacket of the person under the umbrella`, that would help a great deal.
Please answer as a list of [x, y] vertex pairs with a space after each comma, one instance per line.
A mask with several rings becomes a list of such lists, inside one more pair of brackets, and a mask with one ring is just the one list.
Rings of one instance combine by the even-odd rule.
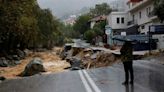
[[121, 50], [121, 60], [122, 62], [133, 60], [133, 46], [130, 41], [126, 41], [122, 46]]

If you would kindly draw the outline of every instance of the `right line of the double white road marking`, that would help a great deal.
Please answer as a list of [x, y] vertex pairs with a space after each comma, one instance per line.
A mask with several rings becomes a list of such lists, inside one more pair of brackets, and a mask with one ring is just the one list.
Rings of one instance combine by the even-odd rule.
[[88, 73], [85, 70], [82, 70], [86, 78], [88, 79], [89, 83], [91, 84], [92, 88], [94, 89], [94, 92], [101, 92], [101, 90], [97, 87], [95, 82], [92, 80], [92, 78], [88, 75]]

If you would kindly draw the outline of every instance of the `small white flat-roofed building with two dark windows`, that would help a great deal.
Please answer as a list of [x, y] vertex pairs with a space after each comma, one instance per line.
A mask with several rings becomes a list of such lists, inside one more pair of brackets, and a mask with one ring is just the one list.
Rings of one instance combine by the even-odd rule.
[[126, 12], [111, 12], [107, 17], [108, 25], [106, 26], [107, 43], [113, 45], [113, 35], [121, 35], [125, 33], [127, 28], [127, 13]]

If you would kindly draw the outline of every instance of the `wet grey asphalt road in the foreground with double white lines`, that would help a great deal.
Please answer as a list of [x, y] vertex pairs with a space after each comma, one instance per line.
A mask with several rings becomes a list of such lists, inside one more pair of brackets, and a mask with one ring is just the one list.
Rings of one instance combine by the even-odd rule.
[[92, 70], [35, 75], [0, 83], [0, 92], [164, 92], [164, 65], [135, 61], [134, 85], [122, 85], [122, 64]]

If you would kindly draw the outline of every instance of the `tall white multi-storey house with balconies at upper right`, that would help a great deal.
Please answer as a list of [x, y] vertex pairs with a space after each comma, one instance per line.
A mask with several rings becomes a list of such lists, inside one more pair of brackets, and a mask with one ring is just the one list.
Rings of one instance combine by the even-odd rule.
[[153, 0], [142, 0], [137, 3], [128, 1], [128, 26], [137, 24], [141, 34], [147, 34], [151, 25], [159, 24], [157, 16], [153, 14]]

